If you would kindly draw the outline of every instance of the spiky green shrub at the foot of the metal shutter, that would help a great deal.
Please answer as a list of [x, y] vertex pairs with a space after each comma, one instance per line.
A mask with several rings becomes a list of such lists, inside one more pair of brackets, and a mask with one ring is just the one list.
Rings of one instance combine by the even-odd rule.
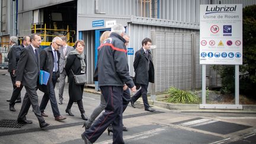
[[171, 87], [167, 91], [168, 103], [182, 103], [182, 104], [191, 104], [199, 103], [199, 97], [191, 91], [183, 91], [178, 88]]

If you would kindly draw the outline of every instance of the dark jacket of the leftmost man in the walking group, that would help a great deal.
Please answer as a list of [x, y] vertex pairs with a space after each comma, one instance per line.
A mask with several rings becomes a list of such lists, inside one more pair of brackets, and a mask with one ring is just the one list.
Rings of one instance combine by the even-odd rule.
[[8, 72], [12, 72], [17, 69], [16, 53], [18, 50], [18, 45], [14, 44], [8, 52]]

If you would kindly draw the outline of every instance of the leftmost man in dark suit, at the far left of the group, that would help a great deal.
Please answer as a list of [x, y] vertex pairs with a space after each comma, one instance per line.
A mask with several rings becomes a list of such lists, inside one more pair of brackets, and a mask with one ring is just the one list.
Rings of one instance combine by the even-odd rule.
[[[10, 73], [11, 76], [11, 81], [12, 81], [12, 87], [13, 87], [13, 91], [12, 91], [12, 95], [14, 94], [18, 94], [18, 97], [15, 99], [17, 100], [17, 103], [21, 103], [21, 95], [18, 91], [20, 91], [22, 88], [17, 88], [15, 86], [15, 76], [16, 76], [16, 69], [17, 69], [17, 56], [16, 53], [18, 51], [18, 39], [15, 36], [11, 36], [9, 39], [9, 45], [11, 46], [11, 49], [8, 52], [8, 72]], [[15, 101], [14, 100], [14, 101]], [[8, 102], [10, 100], [7, 100]], [[11, 111], [16, 111], [14, 107], [12, 107], [12, 105], [9, 105], [9, 110]]]

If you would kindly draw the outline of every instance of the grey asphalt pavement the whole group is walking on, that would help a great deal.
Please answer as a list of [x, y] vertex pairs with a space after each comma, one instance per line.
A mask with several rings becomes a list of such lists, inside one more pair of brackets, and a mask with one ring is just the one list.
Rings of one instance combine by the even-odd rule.
[[[58, 100], [58, 83], [55, 92]], [[89, 116], [100, 104], [100, 95], [94, 89], [85, 89], [83, 103], [85, 113]], [[84, 143], [81, 133], [84, 132], [78, 106], [73, 104], [74, 117], [65, 113], [69, 100], [68, 84], [65, 86], [64, 100], [58, 105], [60, 114], [67, 117], [63, 122], [55, 121], [50, 104], [47, 105], [44, 117], [50, 126], [41, 130], [38, 120], [32, 111], [28, 111], [27, 119], [33, 124], [17, 124], [21, 104], [15, 104], [17, 111], [9, 111], [6, 100], [11, 97], [11, 78], [6, 70], [0, 70], [0, 143]], [[43, 93], [37, 91], [39, 103]], [[21, 92], [23, 98], [25, 89]], [[150, 100], [150, 97], [149, 97]], [[200, 110], [197, 106], [178, 105], [176, 108], [168, 104], [151, 101], [155, 113], [145, 111], [141, 98], [135, 103], [136, 108], [127, 107], [123, 113], [123, 124], [129, 131], [123, 132], [126, 143], [256, 143], [256, 111], [251, 110]], [[162, 105], [159, 105], [161, 103]], [[254, 106], [254, 105], [252, 105]], [[180, 108], [179, 108], [180, 107]], [[195, 108], [193, 108], [195, 107]], [[113, 134], [107, 130], [95, 143], [112, 143]]]

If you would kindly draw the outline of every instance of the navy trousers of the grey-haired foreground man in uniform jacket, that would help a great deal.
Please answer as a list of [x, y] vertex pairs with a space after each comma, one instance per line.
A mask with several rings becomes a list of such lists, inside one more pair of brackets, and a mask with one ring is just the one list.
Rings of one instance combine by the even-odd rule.
[[123, 141], [123, 87], [105, 86], [100, 87], [104, 99], [107, 103], [105, 111], [92, 124], [92, 126], [83, 133], [88, 140], [94, 143], [98, 137], [107, 129], [110, 124], [113, 126], [113, 143], [122, 144]]

